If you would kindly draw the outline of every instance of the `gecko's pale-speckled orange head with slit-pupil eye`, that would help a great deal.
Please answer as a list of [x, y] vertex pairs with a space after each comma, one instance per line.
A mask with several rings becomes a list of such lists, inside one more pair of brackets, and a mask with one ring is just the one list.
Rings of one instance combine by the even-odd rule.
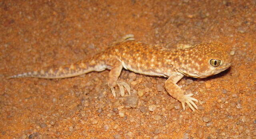
[[184, 75], [204, 78], [220, 73], [231, 66], [231, 56], [220, 42], [202, 43], [184, 50], [185, 64], [178, 71]]

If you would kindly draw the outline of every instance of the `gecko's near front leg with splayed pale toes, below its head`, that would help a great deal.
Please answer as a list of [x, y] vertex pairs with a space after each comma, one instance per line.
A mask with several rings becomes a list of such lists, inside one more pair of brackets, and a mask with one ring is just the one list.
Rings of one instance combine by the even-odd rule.
[[[176, 98], [178, 101], [181, 102], [183, 110], [185, 110], [185, 103], [188, 104], [188, 106], [192, 109], [192, 111], [195, 111], [194, 107], [198, 109], [196, 104], [193, 101], [198, 102], [197, 99], [191, 97], [193, 94], [184, 95], [184, 90], [182, 90], [176, 83], [183, 77], [183, 74], [174, 74], [171, 75], [164, 83], [166, 91], [174, 98]], [[192, 107], [192, 105], [194, 107]]]

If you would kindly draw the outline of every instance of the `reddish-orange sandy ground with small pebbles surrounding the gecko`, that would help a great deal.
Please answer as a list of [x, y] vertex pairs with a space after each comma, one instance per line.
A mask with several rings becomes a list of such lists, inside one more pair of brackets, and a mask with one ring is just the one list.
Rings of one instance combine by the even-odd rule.
[[[126, 34], [168, 49], [219, 41], [232, 66], [178, 83], [200, 100], [195, 112], [167, 94], [166, 78], [127, 70], [131, 97], [113, 97], [108, 70], [6, 79], [89, 58]], [[0, 138], [256, 139], [255, 34], [255, 0], [2, 0]]]

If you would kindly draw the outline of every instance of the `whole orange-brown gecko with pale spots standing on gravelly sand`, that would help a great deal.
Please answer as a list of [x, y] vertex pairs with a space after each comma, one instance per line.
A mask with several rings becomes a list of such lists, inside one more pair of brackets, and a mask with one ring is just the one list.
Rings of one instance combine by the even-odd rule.
[[185, 91], [177, 85], [177, 82], [184, 76], [208, 77], [231, 66], [231, 56], [220, 42], [201, 43], [188, 48], [168, 50], [163, 46], [136, 42], [130, 36], [127, 38], [86, 60], [59, 68], [12, 75], [8, 78], [56, 79], [108, 69], [110, 72], [107, 84], [113, 96], [116, 97], [114, 87], [119, 87], [120, 94], [124, 97], [124, 88], [131, 95], [130, 85], [124, 81], [118, 81], [122, 68], [124, 68], [135, 73], [168, 78], [164, 82], [166, 91], [182, 103], [184, 111], [185, 104], [195, 111], [198, 107], [194, 102], [198, 102], [198, 100], [192, 97], [192, 93], [185, 95]]

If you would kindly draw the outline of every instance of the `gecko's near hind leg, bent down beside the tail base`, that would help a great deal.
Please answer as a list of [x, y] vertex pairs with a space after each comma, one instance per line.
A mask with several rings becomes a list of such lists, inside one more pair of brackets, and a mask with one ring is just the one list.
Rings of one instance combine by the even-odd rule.
[[108, 86], [110, 87], [112, 94], [114, 95], [114, 97], [116, 97], [114, 87], [118, 85], [122, 97], [124, 97], [124, 87], [128, 91], [129, 95], [131, 95], [130, 85], [128, 85], [126, 82], [117, 82], [118, 77], [123, 68], [122, 63], [118, 60], [116, 60], [116, 62], [113, 63], [114, 65], [108, 75]]

